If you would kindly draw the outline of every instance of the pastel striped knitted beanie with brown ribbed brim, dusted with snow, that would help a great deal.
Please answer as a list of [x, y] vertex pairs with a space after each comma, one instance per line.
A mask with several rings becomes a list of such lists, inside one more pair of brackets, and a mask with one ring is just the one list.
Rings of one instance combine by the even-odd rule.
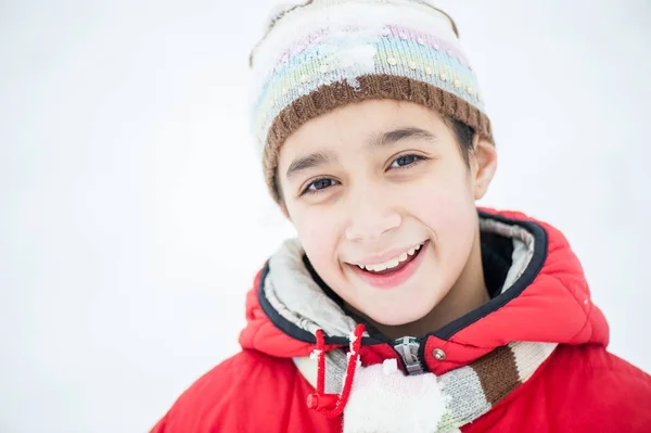
[[452, 20], [424, 0], [310, 0], [273, 15], [251, 54], [253, 132], [279, 202], [280, 148], [306, 122], [372, 99], [410, 101], [493, 142]]

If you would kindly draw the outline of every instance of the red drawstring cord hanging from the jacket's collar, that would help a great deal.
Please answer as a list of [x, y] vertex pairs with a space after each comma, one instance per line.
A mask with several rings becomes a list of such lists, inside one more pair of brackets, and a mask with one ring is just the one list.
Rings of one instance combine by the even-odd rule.
[[317, 349], [315, 351], [318, 357], [317, 367], [317, 392], [307, 397], [307, 407], [316, 410], [328, 418], [339, 417], [344, 412], [344, 408], [350, 396], [353, 380], [359, 364], [359, 348], [361, 347], [361, 338], [366, 328], [363, 324], [358, 324], [355, 328], [355, 333], [350, 338], [350, 351], [348, 352], [348, 364], [346, 366], [346, 379], [342, 394], [326, 394], [326, 339], [323, 331], [318, 329]]

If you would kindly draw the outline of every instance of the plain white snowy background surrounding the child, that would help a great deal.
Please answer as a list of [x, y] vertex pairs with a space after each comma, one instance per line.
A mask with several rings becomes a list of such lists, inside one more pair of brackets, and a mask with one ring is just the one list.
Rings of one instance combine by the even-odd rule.
[[[561, 228], [610, 348], [651, 371], [650, 3], [439, 4], [495, 125], [482, 204]], [[238, 351], [293, 234], [246, 117], [270, 5], [0, 2], [0, 432], [144, 432]]]

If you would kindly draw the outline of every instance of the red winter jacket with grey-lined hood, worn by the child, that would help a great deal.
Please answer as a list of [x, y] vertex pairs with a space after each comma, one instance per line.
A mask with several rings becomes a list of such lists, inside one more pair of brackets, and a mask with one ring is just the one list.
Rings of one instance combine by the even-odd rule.
[[[400, 355], [404, 341], [365, 336], [359, 341], [359, 371], [397, 359], [406, 372], [407, 364], [416, 359], [418, 372], [445, 378], [464, 366], [486, 365], [484, 359], [511, 342], [558, 343], [549, 345], [556, 348], [527, 380], [499, 394], [486, 413], [460, 430], [651, 432], [651, 378], [607, 352], [607, 321], [592, 304], [579, 262], [564, 237], [519, 213], [483, 209], [481, 219], [489, 222], [482, 226], [487, 285], [505, 283], [506, 290], [492, 293], [487, 304], [444, 328], [411, 339], [417, 351], [410, 359]], [[518, 242], [510, 239], [514, 232], [524, 240], [519, 253], [513, 246]], [[288, 254], [279, 253], [269, 260], [247, 294], [248, 323], [240, 335], [242, 352], [190, 386], [152, 432], [343, 431], [343, 417], [327, 418], [308, 408], [315, 377], [310, 378], [309, 368], [297, 366], [310, 362], [307, 357], [316, 348], [315, 329], [352, 329], [355, 322], [344, 313], [332, 316], [343, 311], [337, 309], [336, 295], [323, 286], [305, 257], [297, 262], [301, 250], [295, 243], [286, 249]], [[524, 262], [518, 265], [516, 256]], [[522, 268], [514, 276], [507, 275], [516, 265]], [[294, 291], [286, 289], [292, 284]], [[306, 297], [306, 288], [318, 292]], [[292, 296], [297, 298], [289, 302]], [[303, 309], [308, 303], [314, 305]], [[330, 311], [330, 322], [317, 317], [319, 309]], [[342, 332], [326, 332], [324, 338], [324, 353], [348, 345], [348, 334]], [[484, 389], [493, 385], [489, 375], [480, 380]], [[353, 397], [348, 404], [352, 402]], [[368, 410], [372, 413], [373, 407]], [[396, 407], [388, 415], [400, 419], [404, 410]]]

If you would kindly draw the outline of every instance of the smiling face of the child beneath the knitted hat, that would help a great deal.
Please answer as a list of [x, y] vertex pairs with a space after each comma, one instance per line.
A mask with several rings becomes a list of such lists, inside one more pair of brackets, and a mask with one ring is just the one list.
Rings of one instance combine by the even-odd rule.
[[373, 100], [319, 116], [284, 143], [284, 211], [323, 281], [371, 320], [399, 326], [430, 313], [464, 269], [477, 232], [474, 201], [495, 170], [474, 140], [470, 168], [435, 112]]

